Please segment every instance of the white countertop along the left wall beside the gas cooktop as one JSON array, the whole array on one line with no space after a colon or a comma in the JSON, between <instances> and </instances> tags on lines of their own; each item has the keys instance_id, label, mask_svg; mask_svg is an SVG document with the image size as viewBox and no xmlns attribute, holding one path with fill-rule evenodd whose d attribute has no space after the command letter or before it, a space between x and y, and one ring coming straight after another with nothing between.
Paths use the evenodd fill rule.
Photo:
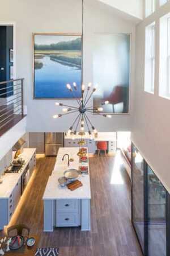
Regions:
<instances>
[{"instance_id":1,"label":"white countertop along the left wall beside the gas cooktop","mask_svg":"<svg viewBox=\"0 0 170 256\"><path fill-rule=\"evenodd\" d=\"M35 151L36 148L24 148L22 154L19 155L19 158L25 160L21 171L18 173L5 174L2 176L3 183L0 184L0 199L7 199L8 197L10 197L14 187L18 183L20 177L23 174L23 171L27 167Z\"/></svg>"}]
</instances>

